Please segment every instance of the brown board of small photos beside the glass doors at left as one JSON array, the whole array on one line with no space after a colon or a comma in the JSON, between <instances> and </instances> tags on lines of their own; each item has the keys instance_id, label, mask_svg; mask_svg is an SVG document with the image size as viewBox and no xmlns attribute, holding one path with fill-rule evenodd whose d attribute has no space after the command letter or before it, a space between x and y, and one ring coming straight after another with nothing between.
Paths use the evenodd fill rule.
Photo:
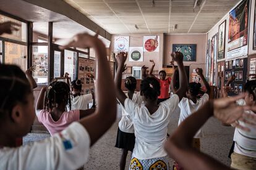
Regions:
<instances>
[{"instance_id":1,"label":"brown board of small photos beside the glass doors at left","mask_svg":"<svg viewBox=\"0 0 256 170\"><path fill-rule=\"evenodd\" d=\"M88 78L88 74L95 76L95 60L79 57L78 79L82 81L82 94L89 94L95 91L94 81Z\"/></svg>"}]
</instances>

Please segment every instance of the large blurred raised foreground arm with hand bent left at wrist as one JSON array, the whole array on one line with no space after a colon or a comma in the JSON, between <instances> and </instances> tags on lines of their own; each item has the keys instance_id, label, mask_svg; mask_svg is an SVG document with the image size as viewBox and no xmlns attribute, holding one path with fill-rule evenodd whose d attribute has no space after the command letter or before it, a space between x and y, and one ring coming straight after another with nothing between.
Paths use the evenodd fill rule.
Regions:
<instances>
[{"instance_id":1,"label":"large blurred raised foreground arm with hand bent left at wrist","mask_svg":"<svg viewBox=\"0 0 256 170\"><path fill-rule=\"evenodd\" d=\"M96 51L97 86L95 95L98 107L92 115L86 116L79 121L87 130L92 146L108 131L116 120L116 93L112 88L114 87L114 81L106 57L106 47L100 39L86 33L77 34L62 49L70 46L80 48L93 47Z\"/></svg>"}]
</instances>

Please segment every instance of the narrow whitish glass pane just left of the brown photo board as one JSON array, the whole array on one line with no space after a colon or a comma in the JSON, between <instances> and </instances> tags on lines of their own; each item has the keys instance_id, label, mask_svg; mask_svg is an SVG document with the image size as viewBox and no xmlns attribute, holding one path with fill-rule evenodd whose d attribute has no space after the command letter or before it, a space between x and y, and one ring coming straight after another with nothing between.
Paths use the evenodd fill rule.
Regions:
<instances>
[{"instance_id":1,"label":"narrow whitish glass pane just left of the brown photo board","mask_svg":"<svg viewBox=\"0 0 256 170\"><path fill-rule=\"evenodd\" d=\"M71 81L73 81L76 77L77 69L76 69L76 63L77 63L77 52L74 51L64 51L64 73L69 73L69 77L71 78Z\"/></svg>"}]
</instances>

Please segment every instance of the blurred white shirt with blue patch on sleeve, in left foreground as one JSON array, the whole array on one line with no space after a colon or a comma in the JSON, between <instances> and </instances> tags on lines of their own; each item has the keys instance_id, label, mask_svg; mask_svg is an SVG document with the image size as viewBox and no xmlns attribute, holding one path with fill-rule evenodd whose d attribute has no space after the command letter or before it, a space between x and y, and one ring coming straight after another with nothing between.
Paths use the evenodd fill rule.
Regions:
<instances>
[{"instance_id":1,"label":"blurred white shirt with blue patch on sleeve, in left foreground","mask_svg":"<svg viewBox=\"0 0 256 170\"><path fill-rule=\"evenodd\" d=\"M0 149L0 169L77 169L88 161L90 136L80 123L48 139Z\"/></svg>"}]
</instances>

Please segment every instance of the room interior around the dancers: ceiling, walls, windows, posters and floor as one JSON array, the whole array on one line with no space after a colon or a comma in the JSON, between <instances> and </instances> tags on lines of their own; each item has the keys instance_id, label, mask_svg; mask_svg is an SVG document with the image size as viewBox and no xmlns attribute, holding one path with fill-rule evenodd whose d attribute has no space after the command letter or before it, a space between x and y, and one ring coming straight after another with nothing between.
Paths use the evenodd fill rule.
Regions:
<instances>
[{"instance_id":1,"label":"room interior around the dancers: ceiling, walls, windows, posters and floor","mask_svg":"<svg viewBox=\"0 0 256 170\"><path fill-rule=\"evenodd\" d=\"M83 94L95 91L93 79L85 76L97 71L94 49L59 49L67 39L83 32L98 33L105 44L113 77L114 54L128 52L127 70L122 74L123 91L127 76L137 79L136 90L140 91L141 69L143 65L151 67L150 60L155 61L153 75L165 70L167 76L172 76L170 55L176 51L184 54L189 82L200 82L195 69L203 69L211 87L211 99L220 97L221 87L231 75L236 75L231 95L237 95L248 75L256 74L255 0L1 0L0 4L0 23L20 24L19 31L0 36L0 61L19 65L23 71L35 68L35 103L41 88L53 79L66 81L66 72L70 81L82 81ZM172 115L168 134L177 128L178 112ZM121 107L117 107L116 122L92 147L84 169L119 168L121 151L114 144L120 119ZM203 129L201 150L229 166L234 128L211 118ZM20 145L49 136L46 127L35 118Z\"/></svg>"}]
</instances>

